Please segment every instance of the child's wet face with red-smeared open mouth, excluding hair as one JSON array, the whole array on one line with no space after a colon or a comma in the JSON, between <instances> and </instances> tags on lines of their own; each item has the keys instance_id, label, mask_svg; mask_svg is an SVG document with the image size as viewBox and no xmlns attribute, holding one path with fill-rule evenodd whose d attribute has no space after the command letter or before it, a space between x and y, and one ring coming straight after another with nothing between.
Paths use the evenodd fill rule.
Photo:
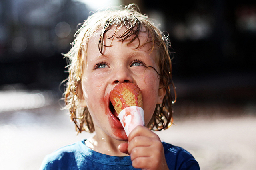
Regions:
<instances>
[{"instance_id":1,"label":"child's wet face with red-smeared open mouth, excluding hair","mask_svg":"<svg viewBox=\"0 0 256 170\"><path fill-rule=\"evenodd\" d=\"M123 31L123 29L121 29ZM127 45L127 40L114 37L110 29L104 38L102 55L98 49L99 35L88 43L87 63L84 62L82 75L82 106L87 106L92 116L96 134L104 133L114 139L127 140L124 129L117 115L110 110L110 91L123 82L132 82L140 87L143 99L145 123L147 124L156 107L161 104L165 91L160 89L159 78L152 66L159 72L156 63L156 51L151 51L151 43L138 47L138 39ZM117 33L120 35L120 32ZM140 45L146 43L148 35L140 33ZM83 56L84 57L84 56ZM84 59L84 61L86 61Z\"/></svg>"}]
</instances>

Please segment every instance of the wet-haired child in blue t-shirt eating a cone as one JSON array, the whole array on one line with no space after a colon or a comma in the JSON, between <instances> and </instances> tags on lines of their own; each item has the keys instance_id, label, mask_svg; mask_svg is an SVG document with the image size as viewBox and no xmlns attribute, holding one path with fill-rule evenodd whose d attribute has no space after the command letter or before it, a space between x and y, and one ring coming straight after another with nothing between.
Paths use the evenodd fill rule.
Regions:
<instances>
[{"instance_id":1,"label":"wet-haired child in blue t-shirt eating a cone","mask_svg":"<svg viewBox=\"0 0 256 170\"><path fill-rule=\"evenodd\" d=\"M198 170L190 153L151 131L171 124L168 47L167 37L134 4L92 14L65 54L70 60L65 101L76 131L95 135L46 156L41 169ZM124 82L140 87L146 124L128 137L109 98Z\"/></svg>"}]
</instances>

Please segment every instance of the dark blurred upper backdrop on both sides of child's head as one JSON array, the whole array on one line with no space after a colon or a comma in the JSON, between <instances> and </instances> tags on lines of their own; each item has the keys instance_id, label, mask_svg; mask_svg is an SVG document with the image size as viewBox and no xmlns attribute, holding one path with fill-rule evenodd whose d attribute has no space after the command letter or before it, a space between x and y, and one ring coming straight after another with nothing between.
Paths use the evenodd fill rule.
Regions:
<instances>
[{"instance_id":1,"label":"dark blurred upper backdrop on both sides of child's head","mask_svg":"<svg viewBox=\"0 0 256 170\"><path fill-rule=\"evenodd\" d=\"M255 2L121 4L132 2L169 33L178 99L255 103ZM0 0L0 90L21 84L61 94L60 83L68 76L61 53L68 52L78 23L90 10L72 0Z\"/></svg>"}]
</instances>

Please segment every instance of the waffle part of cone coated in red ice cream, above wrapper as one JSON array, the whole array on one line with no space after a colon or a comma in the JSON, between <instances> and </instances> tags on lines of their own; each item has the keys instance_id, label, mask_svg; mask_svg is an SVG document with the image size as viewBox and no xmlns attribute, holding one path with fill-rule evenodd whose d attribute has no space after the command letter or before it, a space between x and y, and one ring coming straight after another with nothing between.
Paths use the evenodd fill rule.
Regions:
<instances>
[{"instance_id":1,"label":"waffle part of cone coated in red ice cream, above wrapper","mask_svg":"<svg viewBox=\"0 0 256 170\"><path fill-rule=\"evenodd\" d=\"M143 108L140 88L134 83L121 83L115 86L110 92L110 101L118 115L126 107L138 106Z\"/></svg>"}]
</instances>

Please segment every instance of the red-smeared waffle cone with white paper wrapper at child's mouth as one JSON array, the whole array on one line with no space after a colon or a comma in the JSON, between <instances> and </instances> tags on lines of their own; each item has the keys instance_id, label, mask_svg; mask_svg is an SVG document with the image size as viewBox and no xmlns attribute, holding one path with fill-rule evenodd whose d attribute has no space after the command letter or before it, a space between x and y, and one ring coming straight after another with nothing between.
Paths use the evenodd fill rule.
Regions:
<instances>
[{"instance_id":1,"label":"red-smeared waffle cone with white paper wrapper at child's mouth","mask_svg":"<svg viewBox=\"0 0 256 170\"><path fill-rule=\"evenodd\" d=\"M110 101L127 136L137 125L145 125L142 94L136 84L118 84L110 92Z\"/></svg>"}]
</instances>

